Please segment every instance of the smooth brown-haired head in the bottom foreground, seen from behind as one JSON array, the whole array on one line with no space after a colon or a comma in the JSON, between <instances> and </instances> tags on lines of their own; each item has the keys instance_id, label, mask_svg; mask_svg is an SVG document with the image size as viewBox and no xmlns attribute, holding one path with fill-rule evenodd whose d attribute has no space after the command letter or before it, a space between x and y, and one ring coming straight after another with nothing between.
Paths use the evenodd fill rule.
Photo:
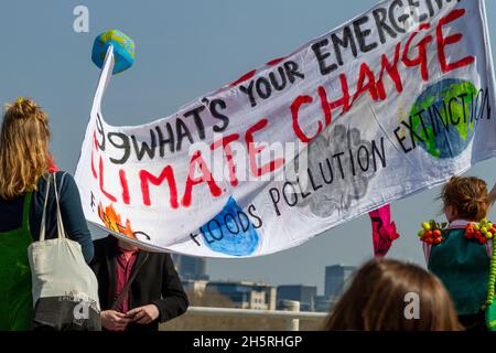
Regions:
<instances>
[{"instance_id":1,"label":"smooth brown-haired head in the bottom foreground, seen from behind","mask_svg":"<svg viewBox=\"0 0 496 353\"><path fill-rule=\"evenodd\" d=\"M325 329L456 331L461 327L450 295L436 277L412 264L373 259L331 309Z\"/></svg>"}]
</instances>

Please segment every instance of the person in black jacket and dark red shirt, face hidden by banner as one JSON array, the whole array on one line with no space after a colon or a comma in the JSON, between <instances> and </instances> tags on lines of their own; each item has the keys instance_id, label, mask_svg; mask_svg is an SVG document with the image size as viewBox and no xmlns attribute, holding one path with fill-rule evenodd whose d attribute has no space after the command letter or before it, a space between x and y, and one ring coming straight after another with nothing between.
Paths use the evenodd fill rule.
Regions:
<instances>
[{"instance_id":1,"label":"person in black jacket and dark red shirt, face hidden by banner","mask_svg":"<svg viewBox=\"0 0 496 353\"><path fill-rule=\"evenodd\" d=\"M101 325L108 331L158 331L188 306L171 256L108 237L95 240Z\"/></svg>"}]
</instances>

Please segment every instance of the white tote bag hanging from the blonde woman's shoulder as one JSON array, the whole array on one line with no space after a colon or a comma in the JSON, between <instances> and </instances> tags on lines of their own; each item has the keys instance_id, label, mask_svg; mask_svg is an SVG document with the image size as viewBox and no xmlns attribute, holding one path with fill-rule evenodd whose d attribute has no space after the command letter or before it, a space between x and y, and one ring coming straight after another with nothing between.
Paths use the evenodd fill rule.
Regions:
<instances>
[{"instance_id":1,"label":"white tote bag hanging from the blonde woman's shoulder","mask_svg":"<svg viewBox=\"0 0 496 353\"><path fill-rule=\"evenodd\" d=\"M53 183L57 237L45 240L46 203ZM55 174L46 183L40 240L28 248L33 282L33 329L101 330L98 281L80 245L66 237Z\"/></svg>"}]
</instances>

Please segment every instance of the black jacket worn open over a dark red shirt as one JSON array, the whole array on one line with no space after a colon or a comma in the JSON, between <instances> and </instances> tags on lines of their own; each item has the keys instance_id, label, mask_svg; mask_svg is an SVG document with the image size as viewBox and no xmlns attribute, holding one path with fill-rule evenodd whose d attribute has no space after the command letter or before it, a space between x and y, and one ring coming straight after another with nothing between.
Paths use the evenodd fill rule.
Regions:
<instances>
[{"instance_id":1,"label":"black jacket worn open over a dark red shirt","mask_svg":"<svg viewBox=\"0 0 496 353\"><path fill-rule=\"evenodd\" d=\"M90 267L98 279L98 296L101 310L109 310L117 299L116 268L118 246L117 239L108 236L94 242L95 257ZM171 256L165 253L148 253L139 250L131 270L133 271L148 258L129 290L129 309L147 304L159 308L159 319L147 324L130 324L129 330L157 331L159 322L174 319L187 309L188 301L181 280L172 263Z\"/></svg>"}]
</instances>

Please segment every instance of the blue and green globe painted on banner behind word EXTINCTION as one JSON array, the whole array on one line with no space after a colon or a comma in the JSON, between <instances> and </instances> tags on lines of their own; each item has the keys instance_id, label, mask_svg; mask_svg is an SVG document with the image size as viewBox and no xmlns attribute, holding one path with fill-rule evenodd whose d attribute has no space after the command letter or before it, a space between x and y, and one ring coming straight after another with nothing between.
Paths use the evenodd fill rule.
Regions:
<instances>
[{"instance_id":1,"label":"blue and green globe painted on banner behind word EXTINCTION","mask_svg":"<svg viewBox=\"0 0 496 353\"><path fill-rule=\"evenodd\" d=\"M413 118L411 122L422 139L416 138L416 143L434 158L461 154L474 137L476 119L472 111L477 92L471 82L456 78L428 86L410 110L411 117L423 111L422 120Z\"/></svg>"}]
</instances>

